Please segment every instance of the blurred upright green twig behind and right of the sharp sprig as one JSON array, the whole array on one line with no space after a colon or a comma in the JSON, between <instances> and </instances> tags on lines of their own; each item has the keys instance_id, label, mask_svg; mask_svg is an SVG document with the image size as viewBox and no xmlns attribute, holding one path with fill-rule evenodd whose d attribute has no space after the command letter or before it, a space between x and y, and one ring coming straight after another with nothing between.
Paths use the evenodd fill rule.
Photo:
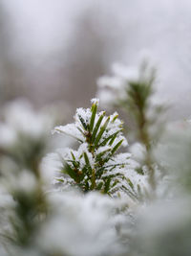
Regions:
<instances>
[{"instance_id":1,"label":"blurred upright green twig behind and right of the sharp sprig","mask_svg":"<svg viewBox=\"0 0 191 256\"><path fill-rule=\"evenodd\" d=\"M144 164L147 166L149 183L155 193L157 180L155 175L156 159L153 158L153 146L158 143L163 128L159 123L164 107L153 105L155 70L144 62L140 67L138 81L128 81L126 101L121 102L128 113L131 113L137 126L136 139L146 149Z\"/></svg>"}]
</instances>

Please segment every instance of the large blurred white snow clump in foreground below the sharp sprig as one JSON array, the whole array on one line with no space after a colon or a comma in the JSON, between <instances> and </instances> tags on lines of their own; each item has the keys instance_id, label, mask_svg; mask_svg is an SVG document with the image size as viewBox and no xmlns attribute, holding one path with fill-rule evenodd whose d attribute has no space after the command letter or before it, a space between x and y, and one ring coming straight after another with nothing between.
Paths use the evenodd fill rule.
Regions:
<instances>
[{"instance_id":1,"label":"large blurred white snow clump in foreground below the sharp sprig","mask_svg":"<svg viewBox=\"0 0 191 256\"><path fill-rule=\"evenodd\" d=\"M121 214L126 200L95 192L56 192L49 195L53 214L35 241L45 252L58 255L118 255L125 251L119 230L131 218ZM127 240L128 241L128 240ZM63 254L64 253L64 254ZM52 254L51 254L52 255Z\"/></svg>"}]
</instances>

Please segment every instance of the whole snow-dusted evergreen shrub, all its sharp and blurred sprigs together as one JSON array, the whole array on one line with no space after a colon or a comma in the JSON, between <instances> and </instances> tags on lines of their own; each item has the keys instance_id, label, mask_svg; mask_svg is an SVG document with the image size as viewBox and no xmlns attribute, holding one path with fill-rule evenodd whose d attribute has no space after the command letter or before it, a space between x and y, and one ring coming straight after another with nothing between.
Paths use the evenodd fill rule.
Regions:
<instances>
[{"instance_id":1,"label":"whole snow-dusted evergreen shrub, all its sharp and blurred sprigs together","mask_svg":"<svg viewBox=\"0 0 191 256\"><path fill-rule=\"evenodd\" d=\"M112 88L125 83L114 99L133 117L128 151L117 112L98 112L97 99L76 109L74 124L53 129L73 137L76 148L63 144L46 157L52 119L26 103L5 108L0 255L190 255L190 121L161 132L162 107L144 67L116 65L117 77L107 79Z\"/></svg>"}]
</instances>

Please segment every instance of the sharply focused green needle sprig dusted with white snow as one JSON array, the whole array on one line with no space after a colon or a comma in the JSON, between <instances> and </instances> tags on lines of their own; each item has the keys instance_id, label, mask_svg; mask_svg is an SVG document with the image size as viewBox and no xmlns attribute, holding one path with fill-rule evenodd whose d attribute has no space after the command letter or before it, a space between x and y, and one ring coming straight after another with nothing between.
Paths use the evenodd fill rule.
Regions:
<instances>
[{"instance_id":1,"label":"sharply focused green needle sprig dusted with white snow","mask_svg":"<svg viewBox=\"0 0 191 256\"><path fill-rule=\"evenodd\" d=\"M56 180L64 185L76 185L82 191L92 190L119 196L125 193L138 199L141 175L135 171L137 163L127 152L116 153L120 146L127 146L122 134L123 123L118 114L106 116L97 112L98 100L92 100L91 108L77 108L74 124L55 127L53 132L74 137L79 148L57 151L63 167Z\"/></svg>"}]
</instances>

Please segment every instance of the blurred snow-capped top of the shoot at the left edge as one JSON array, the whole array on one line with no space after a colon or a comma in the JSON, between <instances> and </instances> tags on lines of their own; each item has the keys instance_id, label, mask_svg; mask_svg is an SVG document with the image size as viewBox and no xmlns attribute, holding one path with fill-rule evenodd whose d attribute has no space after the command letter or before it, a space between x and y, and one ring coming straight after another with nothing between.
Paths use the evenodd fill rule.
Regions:
<instances>
[{"instance_id":1,"label":"blurred snow-capped top of the shoot at the left edge","mask_svg":"<svg viewBox=\"0 0 191 256\"><path fill-rule=\"evenodd\" d=\"M26 100L5 105L1 115L2 156L11 156L16 165L31 169L47 151L53 118L43 111L36 111Z\"/></svg>"}]
</instances>

